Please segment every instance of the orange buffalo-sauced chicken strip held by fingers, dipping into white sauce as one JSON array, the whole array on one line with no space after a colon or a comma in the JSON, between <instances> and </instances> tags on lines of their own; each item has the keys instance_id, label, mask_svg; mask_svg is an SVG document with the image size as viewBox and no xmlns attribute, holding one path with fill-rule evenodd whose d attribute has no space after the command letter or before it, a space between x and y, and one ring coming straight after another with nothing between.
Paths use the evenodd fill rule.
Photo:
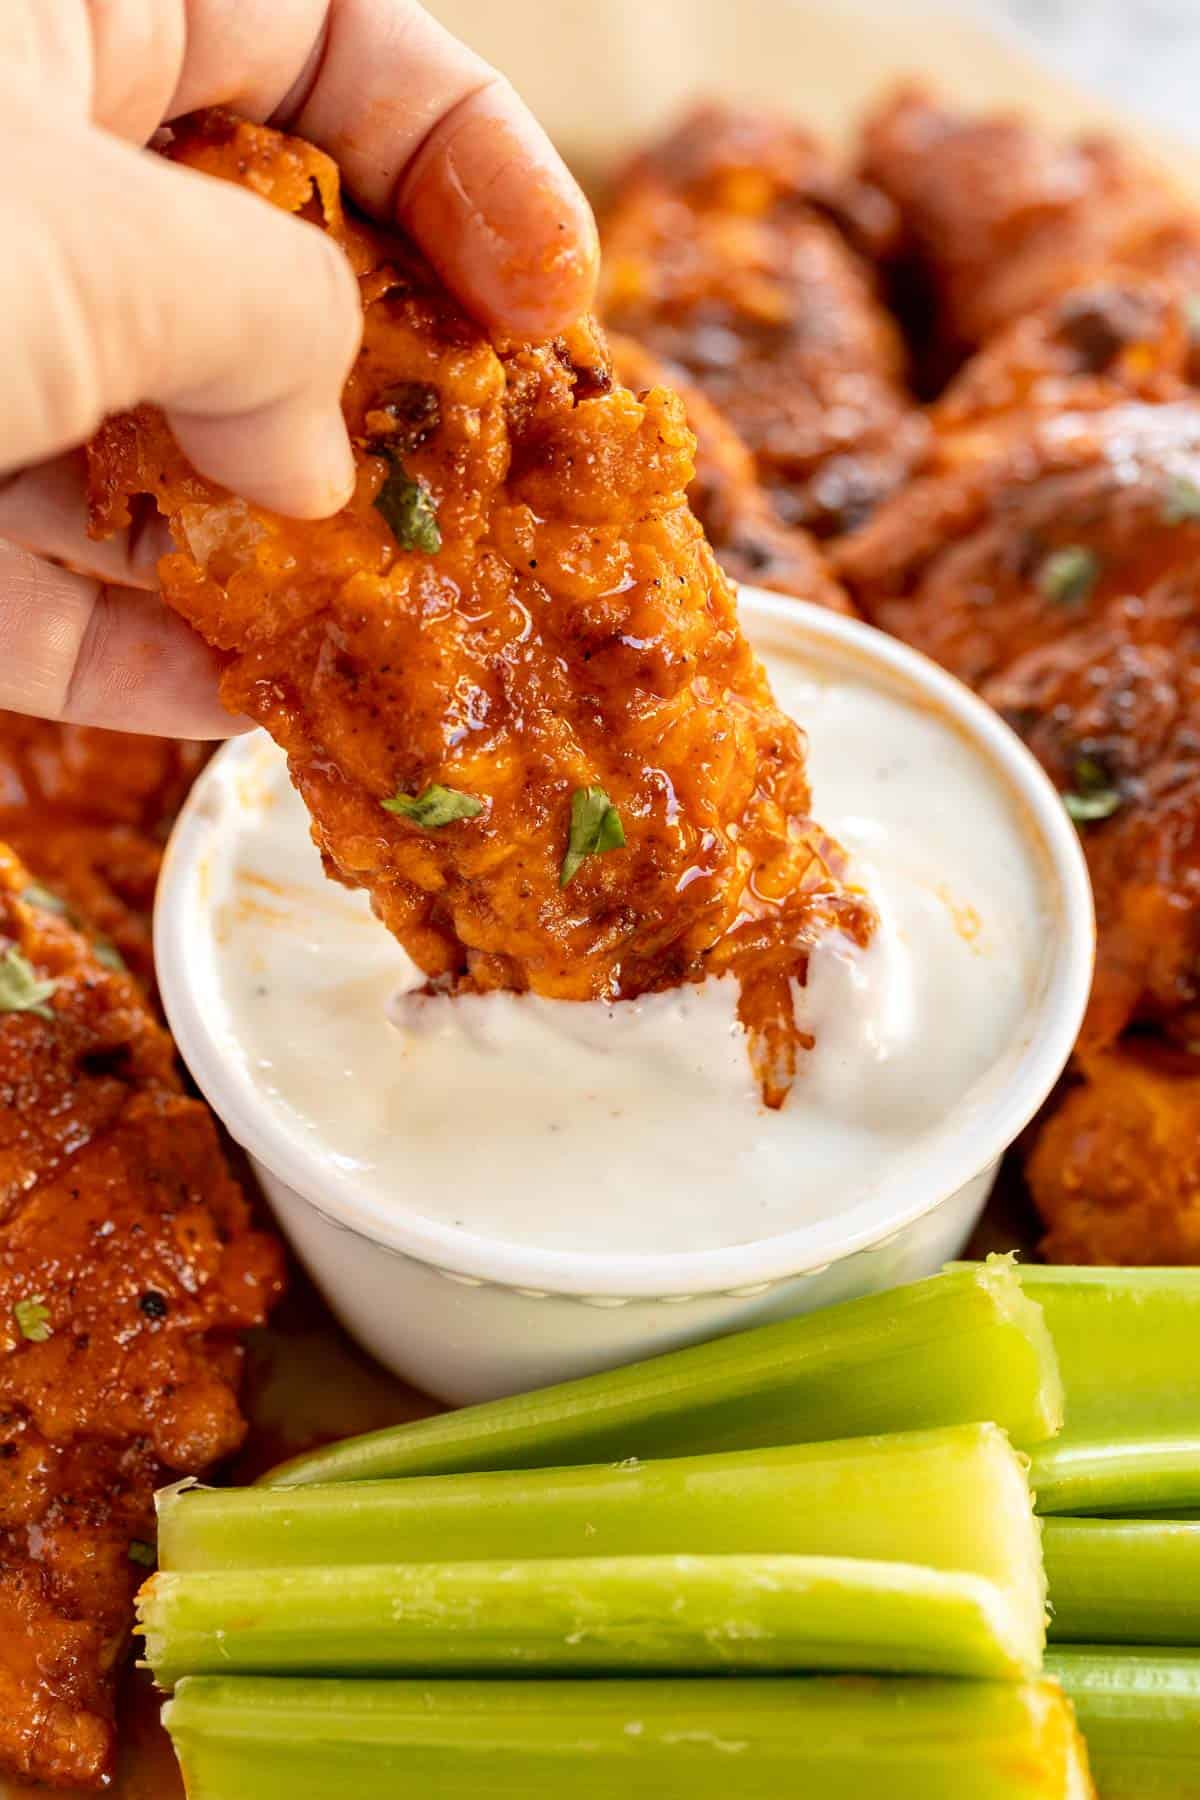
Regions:
<instances>
[{"instance_id":1,"label":"orange buffalo-sauced chicken strip held by fingers, dipping into white sauce","mask_svg":"<svg viewBox=\"0 0 1200 1800\"><path fill-rule=\"evenodd\" d=\"M615 385L587 322L497 349L408 245L345 218L308 144L207 113L169 153L345 247L358 486L331 520L282 520L198 477L139 409L92 446L94 529L155 497L178 544L164 594L225 652L227 704L288 751L327 871L371 891L432 981L587 1001L732 970L781 1103L792 983L819 932L865 941L874 913L810 819L804 736L687 508L680 401ZM435 509L437 547L376 506L396 481ZM423 828L381 805L430 785L482 810ZM563 882L592 787L624 846Z\"/></svg>"}]
</instances>

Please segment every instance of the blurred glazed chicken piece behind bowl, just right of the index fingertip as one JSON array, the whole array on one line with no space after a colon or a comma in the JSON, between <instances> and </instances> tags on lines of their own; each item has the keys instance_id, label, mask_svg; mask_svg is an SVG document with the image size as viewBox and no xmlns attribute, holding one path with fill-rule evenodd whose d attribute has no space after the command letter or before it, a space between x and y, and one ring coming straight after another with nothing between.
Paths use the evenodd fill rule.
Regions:
<instances>
[{"instance_id":1,"label":"blurred glazed chicken piece behind bowl, just right of the index fingertip","mask_svg":"<svg viewBox=\"0 0 1200 1800\"><path fill-rule=\"evenodd\" d=\"M684 371L784 524L820 536L865 518L923 439L860 254L883 250L892 223L806 131L723 106L637 157L601 220L606 324Z\"/></svg>"}]
</instances>

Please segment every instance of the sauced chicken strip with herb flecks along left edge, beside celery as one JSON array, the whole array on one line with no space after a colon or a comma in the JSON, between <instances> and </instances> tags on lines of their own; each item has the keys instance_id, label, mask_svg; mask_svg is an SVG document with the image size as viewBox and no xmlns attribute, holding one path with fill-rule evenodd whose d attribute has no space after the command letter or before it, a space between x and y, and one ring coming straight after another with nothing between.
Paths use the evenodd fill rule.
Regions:
<instances>
[{"instance_id":1,"label":"sauced chicken strip with herb flecks along left edge, beside celery","mask_svg":"<svg viewBox=\"0 0 1200 1800\"><path fill-rule=\"evenodd\" d=\"M112 1769L153 1490L237 1447L279 1289L133 981L0 848L0 1771Z\"/></svg>"}]
</instances>

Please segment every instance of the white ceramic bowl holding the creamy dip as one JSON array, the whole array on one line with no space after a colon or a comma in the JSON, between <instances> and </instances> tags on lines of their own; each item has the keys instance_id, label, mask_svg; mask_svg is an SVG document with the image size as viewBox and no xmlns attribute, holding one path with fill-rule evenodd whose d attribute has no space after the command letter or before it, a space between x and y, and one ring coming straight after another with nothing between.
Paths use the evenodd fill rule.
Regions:
<instances>
[{"instance_id":1,"label":"white ceramic bowl holding the creamy dip","mask_svg":"<svg viewBox=\"0 0 1200 1800\"><path fill-rule=\"evenodd\" d=\"M216 1030L209 862L236 805L230 774L257 752L228 743L196 783L158 884L158 981L180 1053L248 1152L275 1215L333 1312L383 1364L453 1402L543 1386L675 1345L930 1274L959 1253L997 1163L1033 1118L1074 1044L1092 974L1087 868L1063 805L1013 733L925 657L817 607L741 596L763 650L788 646L934 709L963 734L1022 821L1045 896L1045 941L1013 1042L928 1139L919 1172L898 1170L837 1217L729 1249L666 1255L542 1251L423 1217L394 1193L299 1143ZM820 796L817 796L820 805ZM869 796L864 796L869 808ZM646 1172L648 1186L653 1170Z\"/></svg>"}]
</instances>

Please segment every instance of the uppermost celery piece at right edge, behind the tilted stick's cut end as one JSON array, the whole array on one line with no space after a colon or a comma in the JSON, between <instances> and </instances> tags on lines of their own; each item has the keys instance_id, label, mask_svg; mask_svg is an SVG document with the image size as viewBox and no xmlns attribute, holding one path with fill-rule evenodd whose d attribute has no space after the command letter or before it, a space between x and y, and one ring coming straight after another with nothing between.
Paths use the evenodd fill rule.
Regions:
<instances>
[{"instance_id":1,"label":"uppermost celery piece at right edge, behind the tilted stick's cut end","mask_svg":"<svg viewBox=\"0 0 1200 1800\"><path fill-rule=\"evenodd\" d=\"M1200 1269L1043 1269L1020 1280L1045 1312L1067 1417L1031 1447L1040 1512L1200 1507Z\"/></svg>"}]
</instances>

